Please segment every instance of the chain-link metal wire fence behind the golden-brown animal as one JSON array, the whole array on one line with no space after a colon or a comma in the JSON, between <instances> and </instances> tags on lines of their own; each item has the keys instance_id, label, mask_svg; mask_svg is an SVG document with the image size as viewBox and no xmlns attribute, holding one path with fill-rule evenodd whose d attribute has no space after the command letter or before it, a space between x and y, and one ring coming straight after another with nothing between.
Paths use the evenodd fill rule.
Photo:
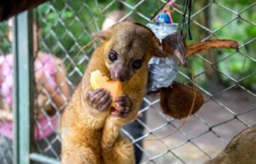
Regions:
<instances>
[{"instance_id":1,"label":"chain-link metal wire fence behind the golden-brown animal","mask_svg":"<svg viewBox=\"0 0 256 164\"><path fill-rule=\"evenodd\" d=\"M32 161L60 161L58 122L96 48L96 43L84 48L92 40L92 33L101 31L103 21L115 10L125 13L120 21L129 18L146 25L164 3L164 0L55 0L34 9L37 55ZM182 0L176 3L183 5ZM137 156L143 155L140 163L203 163L217 156L242 129L256 124L255 4L195 1L190 18L193 42L225 38L236 40L240 47L196 54L189 59L189 69L179 68L177 81L194 84L205 99L201 110L190 116L182 128L177 129L183 119L163 114L158 96L145 96L136 123L122 130L134 144ZM174 9L172 18L180 23L182 8ZM12 53L9 28L8 22L0 24L0 70L3 63L9 63L6 59ZM3 92L4 75L12 74L12 66L9 65L10 72L0 73L1 164L13 163L13 142L9 138L12 104L5 105L4 101L12 97L12 88L6 92L11 95ZM44 159L37 155L44 155Z\"/></svg>"}]
</instances>

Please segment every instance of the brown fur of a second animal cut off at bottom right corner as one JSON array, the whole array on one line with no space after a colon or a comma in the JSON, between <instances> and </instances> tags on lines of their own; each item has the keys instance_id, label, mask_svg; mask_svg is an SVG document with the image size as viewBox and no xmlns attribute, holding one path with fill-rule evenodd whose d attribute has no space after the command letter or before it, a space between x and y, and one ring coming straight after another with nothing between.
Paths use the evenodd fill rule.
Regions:
<instances>
[{"instance_id":1,"label":"brown fur of a second animal cut off at bottom right corner","mask_svg":"<svg viewBox=\"0 0 256 164\"><path fill-rule=\"evenodd\" d=\"M237 134L217 157L205 164L256 164L256 126Z\"/></svg>"}]
</instances>

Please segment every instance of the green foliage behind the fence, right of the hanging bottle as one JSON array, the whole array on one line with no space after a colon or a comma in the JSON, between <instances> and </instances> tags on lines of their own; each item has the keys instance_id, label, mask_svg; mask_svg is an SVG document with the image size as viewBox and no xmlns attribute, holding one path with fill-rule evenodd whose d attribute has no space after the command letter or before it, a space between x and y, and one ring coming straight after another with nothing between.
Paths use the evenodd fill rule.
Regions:
<instances>
[{"instance_id":1,"label":"green foliage behind the fence, right of the hanging bottle","mask_svg":"<svg viewBox=\"0 0 256 164\"><path fill-rule=\"evenodd\" d=\"M223 73L219 73L219 79L221 82L230 85L234 84L234 82L230 80L231 78L234 79L235 82L239 82L245 88L256 89L256 76L253 75L256 70L256 54L254 53L256 50L256 41L253 41L256 37L256 28L255 25L250 23L253 22L255 24L256 22L256 15L253 14L256 7L246 9L253 4L253 2L250 1L236 1L236 3L234 3L232 0L225 0L218 1L217 3L226 8L230 8L234 12L230 12L220 7L218 4L213 3L211 5L211 18L206 18L201 12L193 19L202 25L207 19L211 19L212 27L208 28L215 31L214 37L232 39L237 41L240 45L245 44L245 46L239 49L241 53L236 53L236 50L230 49L213 50L210 53L215 56L218 70L227 75L225 76ZM202 4L201 7L195 5L194 12L198 11L202 6L204 5ZM243 11L241 14L236 14L241 11ZM201 39L211 34L199 25L191 24L191 29L194 42L199 42ZM247 58L247 56L252 59ZM194 69L195 74L200 74L201 71L204 70L204 65L205 63L200 58L189 59L189 66ZM249 77L247 78L247 76ZM240 80L243 78L244 80ZM201 84L203 84L205 80L207 79L203 77Z\"/></svg>"}]
</instances>

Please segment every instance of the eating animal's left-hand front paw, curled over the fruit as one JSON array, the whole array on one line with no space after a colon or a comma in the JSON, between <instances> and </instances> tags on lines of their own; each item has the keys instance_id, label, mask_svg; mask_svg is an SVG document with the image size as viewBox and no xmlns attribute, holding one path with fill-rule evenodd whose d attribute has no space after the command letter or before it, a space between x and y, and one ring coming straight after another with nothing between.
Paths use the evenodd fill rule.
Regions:
<instances>
[{"instance_id":1,"label":"eating animal's left-hand front paw, curled over the fruit","mask_svg":"<svg viewBox=\"0 0 256 164\"><path fill-rule=\"evenodd\" d=\"M110 92L103 88L90 89L88 98L90 106L99 111L108 110L112 102Z\"/></svg>"}]
</instances>

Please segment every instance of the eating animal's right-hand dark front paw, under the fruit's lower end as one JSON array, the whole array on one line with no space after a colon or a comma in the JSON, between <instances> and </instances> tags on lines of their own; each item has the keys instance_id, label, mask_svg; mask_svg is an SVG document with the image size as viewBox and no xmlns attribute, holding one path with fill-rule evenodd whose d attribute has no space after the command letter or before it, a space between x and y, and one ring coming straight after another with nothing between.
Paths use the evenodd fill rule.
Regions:
<instances>
[{"instance_id":1,"label":"eating animal's right-hand dark front paw, under the fruit's lower end","mask_svg":"<svg viewBox=\"0 0 256 164\"><path fill-rule=\"evenodd\" d=\"M120 95L115 99L115 103L117 104L117 109L113 110L113 116L120 116L124 118L130 113L132 103L131 99L127 95Z\"/></svg>"}]
</instances>

